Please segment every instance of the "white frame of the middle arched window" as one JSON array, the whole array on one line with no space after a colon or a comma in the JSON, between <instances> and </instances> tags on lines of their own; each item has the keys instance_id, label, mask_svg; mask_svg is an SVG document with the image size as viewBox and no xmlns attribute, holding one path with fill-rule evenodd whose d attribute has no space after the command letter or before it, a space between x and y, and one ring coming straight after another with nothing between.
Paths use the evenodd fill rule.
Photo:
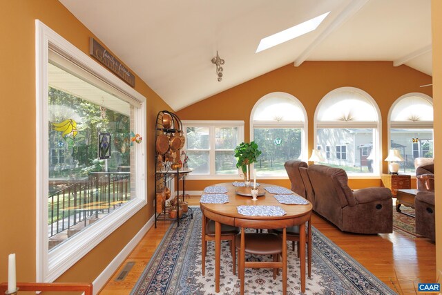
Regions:
<instances>
[{"instance_id":1,"label":"white frame of the middle arched window","mask_svg":"<svg viewBox=\"0 0 442 295\"><path fill-rule=\"evenodd\" d=\"M363 121L344 121L344 122L336 122L336 121L320 121L318 122L318 113L320 110L321 105L330 97L334 96L337 92L343 92L343 91L354 91L356 93L359 93L363 95L365 98L371 102L372 106L376 110L377 114L377 122L363 122ZM374 155L375 160L373 160L373 163L376 164L375 167L377 167L376 170L373 171L373 173L347 173L348 178L350 179L370 179L370 178L379 178L379 176L382 173L382 117L381 117L381 110L379 110L379 106L376 103L376 100L369 95L367 92L363 91L362 89L356 88L356 87L340 87L336 88L329 93L327 93L319 102L318 106L315 110L314 115L314 146L317 145L317 131L318 129L374 129L373 133L373 149L374 151L378 151L376 155Z\"/></svg>"}]
</instances>

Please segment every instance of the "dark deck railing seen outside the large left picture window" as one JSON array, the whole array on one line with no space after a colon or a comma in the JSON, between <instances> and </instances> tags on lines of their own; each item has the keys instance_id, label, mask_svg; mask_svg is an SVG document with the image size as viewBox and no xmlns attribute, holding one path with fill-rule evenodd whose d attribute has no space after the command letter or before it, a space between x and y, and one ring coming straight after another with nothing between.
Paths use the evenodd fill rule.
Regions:
<instances>
[{"instance_id":1,"label":"dark deck railing seen outside the large left picture window","mask_svg":"<svg viewBox=\"0 0 442 295\"><path fill-rule=\"evenodd\" d=\"M131 199L131 173L91 172L88 177L48 197L48 237L66 231L100 213L110 213Z\"/></svg>"}]
</instances>

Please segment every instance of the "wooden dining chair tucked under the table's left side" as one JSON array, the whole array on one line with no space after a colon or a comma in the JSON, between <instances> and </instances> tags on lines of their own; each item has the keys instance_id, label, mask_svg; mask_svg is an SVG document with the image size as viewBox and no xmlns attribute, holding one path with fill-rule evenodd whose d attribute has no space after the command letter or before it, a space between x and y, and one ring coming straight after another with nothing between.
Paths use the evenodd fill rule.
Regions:
<instances>
[{"instance_id":1,"label":"wooden dining chair tucked under the table's left side","mask_svg":"<svg viewBox=\"0 0 442 295\"><path fill-rule=\"evenodd\" d=\"M221 224L221 240L230 241L230 252L233 262L233 274L236 274L236 245L235 237L240 232L238 227L232 227L231 225ZM202 216L202 232L201 232L201 268L202 275L206 272L206 255L207 255L207 241L215 240L215 222Z\"/></svg>"}]
</instances>

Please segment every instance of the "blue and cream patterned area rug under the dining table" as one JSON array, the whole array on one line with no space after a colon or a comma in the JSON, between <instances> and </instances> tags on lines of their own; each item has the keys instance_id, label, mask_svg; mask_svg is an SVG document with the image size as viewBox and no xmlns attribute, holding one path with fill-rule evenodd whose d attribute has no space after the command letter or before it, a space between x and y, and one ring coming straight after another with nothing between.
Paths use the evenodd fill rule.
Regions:
<instances>
[{"instance_id":1,"label":"blue and cream patterned area rug under the dining table","mask_svg":"<svg viewBox=\"0 0 442 295\"><path fill-rule=\"evenodd\" d=\"M179 227L176 222L171 225L131 295L215 294L214 242L208 242L206 275L201 272L201 216L196 209L193 219L180 221ZM312 233L311 278L306 279L305 294L396 294L318 230L313 228ZM289 249L287 254L287 294L302 294L296 251ZM240 280L232 273L227 241L222 241L220 277L218 294L239 294ZM273 280L271 269L246 269L244 293L282 294L281 277Z\"/></svg>"}]
</instances>

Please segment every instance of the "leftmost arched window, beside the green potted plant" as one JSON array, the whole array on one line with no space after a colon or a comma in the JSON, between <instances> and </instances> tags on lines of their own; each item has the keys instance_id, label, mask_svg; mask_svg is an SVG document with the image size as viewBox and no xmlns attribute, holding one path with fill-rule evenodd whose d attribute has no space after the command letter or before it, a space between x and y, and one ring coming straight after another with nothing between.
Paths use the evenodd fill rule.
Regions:
<instances>
[{"instance_id":1,"label":"leftmost arched window, beside the green potted plant","mask_svg":"<svg viewBox=\"0 0 442 295\"><path fill-rule=\"evenodd\" d=\"M269 93L251 112L251 139L262 151L255 163L258 176L287 175L284 163L307 159L307 113L289 93Z\"/></svg>"}]
</instances>

